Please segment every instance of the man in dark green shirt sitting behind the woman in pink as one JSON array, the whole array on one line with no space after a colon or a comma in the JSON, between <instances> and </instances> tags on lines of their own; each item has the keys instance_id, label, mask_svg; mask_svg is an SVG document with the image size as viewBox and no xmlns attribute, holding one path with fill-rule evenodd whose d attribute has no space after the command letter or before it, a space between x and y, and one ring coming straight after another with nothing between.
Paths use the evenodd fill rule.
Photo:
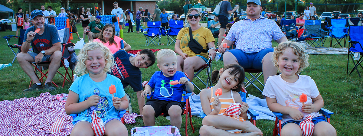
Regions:
<instances>
[{"instance_id":1,"label":"man in dark green shirt sitting behind the woman in pink","mask_svg":"<svg viewBox=\"0 0 363 136\"><path fill-rule=\"evenodd\" d=\"M105 25L101 23L101 17L97 16L96 21L90 22L90 24L88 24L83 33L87 34L87 29L91 29L91 31L88 32L87 35L88 35L88 40L92 41L93 39L98 38L101 35L103 26Z\"/></svg>"}]
</instances>

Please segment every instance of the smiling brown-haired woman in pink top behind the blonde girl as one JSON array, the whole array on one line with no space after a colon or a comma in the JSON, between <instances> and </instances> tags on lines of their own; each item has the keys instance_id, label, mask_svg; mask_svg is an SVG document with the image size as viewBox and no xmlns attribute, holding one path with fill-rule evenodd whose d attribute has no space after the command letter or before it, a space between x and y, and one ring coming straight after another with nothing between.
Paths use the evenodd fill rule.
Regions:
<instances>
[{"instance_id":1,"label":"smiling brown-haired woman in pink top behind the blonde girl","mask_svg":"<svg viewBox=\"0 0 363 136\"><path fill-rule=\"evenodd\" d=\"M105 45L111 50L112 54L116 53L118 50L131 50L131 46L125 41L123 41L124 48L121 48L121 40L122 39L120 37L115 36L114 25L106 24L101 31L101 35L93 41L97 41Z\"/></svg>"}]
</instances>

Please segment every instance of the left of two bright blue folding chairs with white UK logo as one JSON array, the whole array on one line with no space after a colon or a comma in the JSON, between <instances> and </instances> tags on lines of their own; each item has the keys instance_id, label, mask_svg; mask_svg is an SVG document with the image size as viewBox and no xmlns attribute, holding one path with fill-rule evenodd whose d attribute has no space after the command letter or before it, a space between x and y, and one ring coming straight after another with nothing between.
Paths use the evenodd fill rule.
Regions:
<instances>
[{"instance_id":1,"label":"left of two bright blue folding chairs with white UK logo","mask_svg":"<svg viewBox=\"0 0 363 136\"><path fill-rule=\"evenodd\" d=\"M160 35L165 36L165 28L161 27L161 22L160 21L156 21L156 22L147 22L147 28L146 29L141 29L141 31L143 31L144 36L146 38L146 42L145 42L145 46L148 46L150 44L154 44L156 46L157 45L161 45L160 43ZM146 34L145 34L146 32ZM159 42L156 41L156 39L159 40Z\"/></svg>"}]
</instances>

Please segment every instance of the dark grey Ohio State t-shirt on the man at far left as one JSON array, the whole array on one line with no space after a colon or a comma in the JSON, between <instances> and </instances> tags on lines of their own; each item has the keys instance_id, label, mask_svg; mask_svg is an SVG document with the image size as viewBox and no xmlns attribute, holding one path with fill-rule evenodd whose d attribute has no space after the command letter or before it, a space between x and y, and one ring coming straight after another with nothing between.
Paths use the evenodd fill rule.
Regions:
<instances>
[{"instance_id":1,"label":"dark grey Ohio State t-shirt on the man at far left","mask_svg":"<svg viewBox=\"0 0 363 136\"><path fill-rule=\"evenodd\" d=\"M36 29L37 28L35 28L34 26L26 29L24 37L26 37L26 35L30 31L34 32ZM23 42L26 42L26 38L24 38ZM61 40L59 38L58 30L57 30L56 26L44 24L43 34L42 35L36 34L34 36L34 39L30 42L30 44L32 44L32 46L33 46L34 53L40 53L40 51L42 51L42 50L48 50L49 48L51 48L53 46L53 44L55 44L57 42L61 42Z\"/></svg>"}]
</instances>

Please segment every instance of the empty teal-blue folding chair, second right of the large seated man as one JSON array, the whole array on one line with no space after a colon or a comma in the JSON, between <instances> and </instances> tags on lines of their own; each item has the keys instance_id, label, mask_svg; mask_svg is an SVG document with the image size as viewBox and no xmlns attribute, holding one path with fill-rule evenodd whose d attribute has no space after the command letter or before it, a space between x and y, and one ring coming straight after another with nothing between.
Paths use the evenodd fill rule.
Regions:
<instances>
[{"instance_id":1,"label":"empty teal-blue folding chair, second right of the large seated man","mask_svg":"<svg viewBox=\"0 0 363 136\"><path fill-rule=\"evenodd\" d=\"M321 28L321 20L305 20L305 30L303 35L306 35L306 42L310 46L324 47L328 32Z\"/></svg>"}]
</instances>

